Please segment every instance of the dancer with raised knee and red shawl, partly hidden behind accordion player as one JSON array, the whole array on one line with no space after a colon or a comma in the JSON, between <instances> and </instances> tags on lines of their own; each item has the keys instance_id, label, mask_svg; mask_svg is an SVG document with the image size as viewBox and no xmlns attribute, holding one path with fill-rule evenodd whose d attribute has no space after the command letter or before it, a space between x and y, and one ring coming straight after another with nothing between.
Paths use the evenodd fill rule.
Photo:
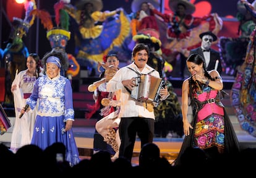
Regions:
<instances>
[{"instance_id":1,"label":"dancer with raised knee and red shawl, partly hidden behind accordion player","mask_svg":"<svg viewBox=\"0 0 256 178\"><path fill-rule=\"evenodd\" d=\"M119 121L118 119L116 120L116 122L113 121L114 122L113 125L116 125L116 127L112 127L113 125L108 125L108 124L109 122L111 122L110 117L113 117L113 114L115 117L118 116L119 108L118 107L116 108L116 106L110 106L109 102L112 100L118 100L119 96L117 95L118 93L116 92L108 92L106 90L106 83L114 75L113 73L110 74L108 72L112 70L112 69L108 69L108 67L113 67L114 72L116 72L116 70L119 69L118 67L119 60L116 54L108 54L103 57L103 61L105 62L106 66L104 67L105 70L100 75L101 80L93 83L93 85L95 86L94 88L95 90L92 90L92 91L94 91L93 98L95 100L95 104L93 106L87 105L89 112L85 114L85 117L87 119L90 119L92 115L95 114L96 111L100 111L100 115L102 117L98 117L98 122L96 122L96 125L95 125L95 134L93 139L93 152L96 153L98 151L105 150L105 151L108 151L111 155L114 155L113 159L116 159L118 158L119 145L120 145L119 135L116 134ZM91 89L89 88L89 90ZM109 114L111 115L109 116ZM110 138L108 139L107 138L108 134L111 134L111 138L113 139L110 139Z\"/></svg>"}]
</instances>

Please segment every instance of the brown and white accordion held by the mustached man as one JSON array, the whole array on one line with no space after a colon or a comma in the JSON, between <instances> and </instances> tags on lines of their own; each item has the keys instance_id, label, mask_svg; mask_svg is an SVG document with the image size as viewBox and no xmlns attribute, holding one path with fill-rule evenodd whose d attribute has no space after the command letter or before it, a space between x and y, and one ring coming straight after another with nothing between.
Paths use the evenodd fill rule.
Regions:
<instances>
[{"instance_id":1,"label":"brown and white accordion held by the mustached man","mask_svg":"<svg viewBox=\"0 0 256 178\"><path fill-rule=\"evenodd\" d=\"M130 97L140 102L159 103L160 89L166 86L166 80L143 74L135 77L136 87L132 88Z\"/></svg>"}]
</instances>

